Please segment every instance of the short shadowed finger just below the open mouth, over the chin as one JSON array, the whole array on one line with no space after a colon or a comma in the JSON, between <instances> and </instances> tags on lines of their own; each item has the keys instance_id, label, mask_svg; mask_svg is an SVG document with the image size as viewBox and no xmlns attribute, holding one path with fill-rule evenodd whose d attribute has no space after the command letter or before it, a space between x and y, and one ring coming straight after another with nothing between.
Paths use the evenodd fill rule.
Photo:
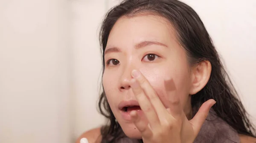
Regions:
<instances>
[{"instance_id":1,"label":"short shadowed finger just below the open mouth, over the chin","mask_svg":"<svg viewBox=\"0 0 256 143\"><path fill-rule=\"evenodd\" d=\"M134 110L131 111L130 115L131 115L131 120L133 121L133 123L137 127L137 129L141 132L141 135L143 137L149 138L153 135L151 132L151 129L149 129L149 127L148 127L148 123L141 120L137 111L134 111Z\"/></svg>"}]
</instances>

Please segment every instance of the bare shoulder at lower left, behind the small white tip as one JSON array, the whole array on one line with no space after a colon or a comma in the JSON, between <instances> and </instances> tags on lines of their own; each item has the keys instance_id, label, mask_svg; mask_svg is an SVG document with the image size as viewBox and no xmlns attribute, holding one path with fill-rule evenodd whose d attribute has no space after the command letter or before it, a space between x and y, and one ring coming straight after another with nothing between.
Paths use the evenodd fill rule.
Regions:
<instances>
[{"instance_id":1,"label":"bare shoulder at lower left, behind the small white tip","mask_svg":"<svg viewBox=\"0 0 256 143\"><path fill-rule=\"evenodd\" d=\"M89 143L100 143L102 140L100 128L91 129L84 132L77 140L76 143L80 143L81 138L87 138Z\"/></svg>"}]
</instances>

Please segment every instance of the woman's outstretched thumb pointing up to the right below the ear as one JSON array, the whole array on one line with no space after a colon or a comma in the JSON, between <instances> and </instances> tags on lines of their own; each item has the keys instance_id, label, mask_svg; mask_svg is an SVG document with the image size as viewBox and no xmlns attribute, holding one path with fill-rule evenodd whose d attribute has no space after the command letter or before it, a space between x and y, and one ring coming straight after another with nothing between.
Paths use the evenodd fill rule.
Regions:
<instances>
[{"instance_id":1,"label":"woman's outstretched thumb pointing up to the right below the ear","mask_svg":"<svg viewBox=\"0 0 256 143\"><path fill-rule=\"evenodd\" d=\"M203 126L204 121L207 118L207 115L211 107L215 103L216 101L213 99L209 99L208 101L204 102L204 104L202 104L202 106L199 108L195 117L190 120L190 123L192 123L193 129L194 129L195 135L198 135L201 127Z\"/></svg>"}]
</instances>

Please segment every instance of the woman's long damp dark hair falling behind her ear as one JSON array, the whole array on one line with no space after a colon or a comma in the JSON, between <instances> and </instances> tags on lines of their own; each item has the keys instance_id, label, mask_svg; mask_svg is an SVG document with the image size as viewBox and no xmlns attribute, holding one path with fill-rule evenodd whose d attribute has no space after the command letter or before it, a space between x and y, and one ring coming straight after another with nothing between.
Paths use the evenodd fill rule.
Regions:
<instances>
[{"instance_id":1,"label":"woman's long damp dark hair falling behind her ear","mask_svg":"<svg viewBox=\"0 0 256 143\"><path fill-rule=\"evenodd\" d=\"M100 31L103 72L105 69L104 52L113 25L122 16L132 17L141 12L160 15L172 23L180 45L185 49L191 64L204 60L211 63L212 72L208 83L201 91L192 95L193 115L205 101L212 98L217 102L212 109L220 118L239 134L255 137L255 128L247 117L248 114L221 63L203 22L190 6L178 0L124 0L111 8L105 15ZM99 98L99 111L110 121L109 126L103 126L101 129L102 143L114 143L121 137L122 129L110 109L104 87Z\"/></svg>"}]
</instances>

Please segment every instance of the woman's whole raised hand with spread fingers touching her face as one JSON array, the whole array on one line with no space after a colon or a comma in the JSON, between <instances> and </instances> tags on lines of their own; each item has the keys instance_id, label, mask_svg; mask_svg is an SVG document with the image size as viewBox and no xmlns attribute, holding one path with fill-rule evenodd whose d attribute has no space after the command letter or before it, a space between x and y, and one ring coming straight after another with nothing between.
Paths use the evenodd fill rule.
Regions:
<instances>
[{"instance_id":1,"label":"woman's whole raised hand with spread fingers touching her face","mask_svg":"<svg viewBox=\"0 0 256 143\"><path fill-rule=\"evenodd\" d=\"M148 123L142 121L137 111L130 113L132 121L142 134L144 143L193 143L210 108L216 103L206 101L192 120L186 118L177 95L167 92L169 108L166 109L148 80L138 71L132 71L131 89Z\"/></svg>"}]
</instances>

